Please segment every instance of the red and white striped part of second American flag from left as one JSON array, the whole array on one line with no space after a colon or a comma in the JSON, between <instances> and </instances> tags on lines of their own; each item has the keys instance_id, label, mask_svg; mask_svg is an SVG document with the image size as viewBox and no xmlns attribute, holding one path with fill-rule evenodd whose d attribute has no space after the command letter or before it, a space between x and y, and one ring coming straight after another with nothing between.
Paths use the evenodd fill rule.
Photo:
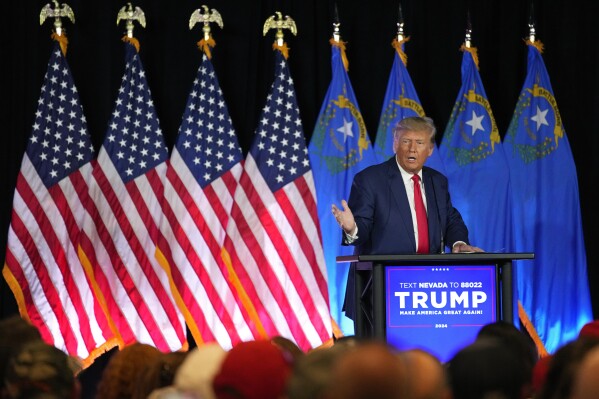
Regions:
<instances>
[{"instance_id":1,"label":"red and white striped part of second American flag from left","mask_svg":"<svg viewBox=\"0 0 599 399\"><path fill-rule=\"evenodd\" d=\"M104 147L90 180L81 248L125 344L186 344L169 277L155 258L166 163L125 184Z\"/></svg>"}]
</instances>

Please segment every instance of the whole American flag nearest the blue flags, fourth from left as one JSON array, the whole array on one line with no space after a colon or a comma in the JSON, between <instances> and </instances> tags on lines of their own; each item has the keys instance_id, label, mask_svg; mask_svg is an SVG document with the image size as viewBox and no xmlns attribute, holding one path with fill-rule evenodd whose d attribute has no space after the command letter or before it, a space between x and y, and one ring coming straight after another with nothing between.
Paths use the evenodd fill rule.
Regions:
<instances>
[{"instance_id":1,"label":"whole American flag nearest the blue flags, fourth from left","mask_svg":"<svg viewBox=\"0 0 599 399\"><path fill-rule=\"evenodd\" d=\"M224 259L239 279L252 328L302 349L331 338L326 267L314 180L287 60L245 160L227 226Z\"/></svg>"}]
</instances>

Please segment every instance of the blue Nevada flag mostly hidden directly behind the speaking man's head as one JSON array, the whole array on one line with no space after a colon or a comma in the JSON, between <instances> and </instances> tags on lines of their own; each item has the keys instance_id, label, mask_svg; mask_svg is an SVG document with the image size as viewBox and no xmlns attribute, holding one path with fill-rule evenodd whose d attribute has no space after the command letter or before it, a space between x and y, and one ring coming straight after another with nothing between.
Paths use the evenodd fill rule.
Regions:
<instances>
[{"instance_id":1,"label":"blue Nevada flag mostly hidden directly behind the speaking man's head","mask_svg":"<svg viewBox=\"0 0 599 399\"><path fill-rule=\"evenodd\" d=\"M387 91L383 101L383 110L379 119L376 132L374 151L379 162L385 161L395 155L393 148L393 128L400 120L411 116L425 116L424 108L420 103L408 69L406 68L407 56L403 45L409 39L393 40L395 55L393 66L387 82ZM426 166L445 174L443 161L439 149L435 145L432 155L426 160Z\"/></svg>"}]
</instances>

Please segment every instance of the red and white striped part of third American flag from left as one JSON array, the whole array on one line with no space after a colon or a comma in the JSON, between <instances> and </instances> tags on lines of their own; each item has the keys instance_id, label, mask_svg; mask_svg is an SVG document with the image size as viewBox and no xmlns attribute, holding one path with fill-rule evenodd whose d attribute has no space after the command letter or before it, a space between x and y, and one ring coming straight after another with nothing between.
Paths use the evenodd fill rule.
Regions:
<instances>
[{"instance_id":1,"label":"red and white striped part of third American flag from left","mask_svg":"<svg viewBox=\"0 0 599 399\"><path fill-rule=\"evenodd\" d=\"M236 164L202 189L175 148L161 225L168 239L159 245L196 343L215 341L226 349L255 338L221 270L225 227L241 169Z\"/></svg>"}]
</instances>

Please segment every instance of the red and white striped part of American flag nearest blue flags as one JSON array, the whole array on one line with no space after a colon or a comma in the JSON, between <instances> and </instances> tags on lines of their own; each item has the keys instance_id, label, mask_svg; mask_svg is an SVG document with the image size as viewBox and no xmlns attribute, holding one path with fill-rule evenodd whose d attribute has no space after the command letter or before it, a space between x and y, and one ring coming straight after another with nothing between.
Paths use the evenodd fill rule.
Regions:
<instances>
[{"instance_id":1,"label":"red and white striped part of American flag nearest blue flags","mask_svg":"<svg viewBox=\"0 0 599 399\"><path fill-rule=\"evenodd\" d=\"M248 154L225 242L264 330L304 350L331 338L314 198L311 171L273 193Z\"/></svg>"}]
</instances>

